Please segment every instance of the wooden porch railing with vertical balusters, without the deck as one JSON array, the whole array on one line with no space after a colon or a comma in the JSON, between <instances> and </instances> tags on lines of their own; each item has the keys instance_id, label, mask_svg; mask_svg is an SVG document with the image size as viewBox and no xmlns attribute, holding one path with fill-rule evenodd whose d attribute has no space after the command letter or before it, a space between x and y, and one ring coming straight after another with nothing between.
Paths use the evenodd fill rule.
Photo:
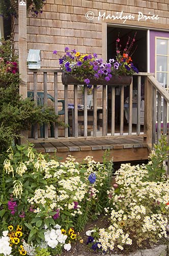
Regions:
<instances>
[{"instance_id":1,"label":"wooden porch railing with vertical balusters, without the deck","mask_svg":"<svg viewBox=\"0 0 169 256\"><path fill-rule=\"evenodd\" d=\"M43 93L44 93L44 105L47 105L47 94L48 94L48 82L47 82L47 76L48 74L52 74L54 79L54 111L55 114L58 114L59 106L58 106L58 90L59 90L59 83L58 83L58 75L61 75L61 70L51 70L51 69L40 69L40 70L29 70L29 73L33 73L34 76L34 101L37 104L38 103L38 97L37 97L37 84L38 84L38 73L43 73ZM102 132L97 131L97 122L98 122L98 105L97 105L97 86L94 86L93 90L93 129L91 134L88 133L88 106L87 106L87 86L84 86L84 107L83 107L83 134L78 135L78 86L74 85L74 97L73 97L73 103L74 103L74 110L73 110L73 134L70 135L70 127L69 120L68 120L68 103L69 103L69 84L64 85L64 101L65 101L65 113L64 113L64 121L66 124L65 127L65 134L64 136L59 136L59 127L58 124L54 124L54 137L53 139L88 139L88 138L100 138L100 137L114 137L114 136L132 136L138 135L145 137L145 143L152 146L152 143L155 142L155 136L157 132L157 138L160 138L161 134L161 97L164 98L164 106L163 106L163 133L167 134L167 115L168 115L168 109L167 109L167 103L169 102L169 96L168 93L165 91L165 89L158 83L158 81L153 77L154 74L152 73L138 73L133 75L132 82L130 86L119 87L119 98L120 98L120 111L119 111L119 119L120 119L120 125L119 125L119 131L117 131L116 128L116 122L115 119L117 117L116 113L116 88L115 87L109 87L110 90L110 102L111 106L110 109L107 110L107 86L101 86L102 87L102 106L100 107L102 109ZM134 102L134 96L133 96L133 80L136 84L134 86L134 89L136 90L137 94L137 100ZM127 92L127 103L125 102L126 98L124 95ZM144 91L144 93L143 93ZM157 124L156 124L156 91L158 95L158 107L157 107ZM141 113L143 110L141 109L141 103L142 103L142 96L144 94L144 123L141 122ZM125 108L127 104L127 108ZM135 127L133 127L132 124L132 115L133 115L133 105L136 115L136 122ZM126 110L124 112L124 110ZM124 127L124 113L127 112L127 120L128 123L125 124ZM111 119L110 127L107 128L107 117L108 119ZM143 119L143 117L142 117ZM126 131L127 127L127 131ZM143 129L144 127L144 129ZM125 128L125 129L124 129ZM134 129L133 129L134 128ZM48 134L48 125L45 124L44 127L44 138L38 139L38 125L35 125L34 127L34 139L38 139L40 141L44 141L44 139L51 139L49 138Z\"/></svg>"}]
</instances>

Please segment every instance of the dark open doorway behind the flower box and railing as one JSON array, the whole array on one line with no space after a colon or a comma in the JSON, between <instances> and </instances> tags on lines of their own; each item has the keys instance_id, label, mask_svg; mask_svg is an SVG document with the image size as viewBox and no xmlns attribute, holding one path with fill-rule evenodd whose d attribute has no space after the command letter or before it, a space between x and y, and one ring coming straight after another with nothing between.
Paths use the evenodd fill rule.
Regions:
<instances>
[{"instance_id":1,"label":"dark open doorway behind the flower box and railing","mask_svg":"<svg viewBox=\"0 0 169 256\"><path fill-rule=\"evenodd\" d=\"M139 72L147 72L147 30L124 28L124 27L107 27L107 60L114 58L116 59L116 39L119 37L121 42L121 49L123 50L126 46L128 37L133 38L136 32L135 43L133 46L132 63L138 69ZM131 51L132 52L132 51ZM115 89L115 130L119 131L120 126L120 87ZM137 94L137 78L133 77L133 97L136 98ZM129 96L129 87L124 89L124 103L127 101ZM144 100L144 80L142 81L142 99ZM110 87L107 87L107 132L111 126L111 91ZM127 118L124 115L124 132L125 127L128 129ZM125 125L126 124L126 125ZM133 127L136 124L133 122ZM126 131L127 132L127 131Z\"/></svg>"}]
</instances>

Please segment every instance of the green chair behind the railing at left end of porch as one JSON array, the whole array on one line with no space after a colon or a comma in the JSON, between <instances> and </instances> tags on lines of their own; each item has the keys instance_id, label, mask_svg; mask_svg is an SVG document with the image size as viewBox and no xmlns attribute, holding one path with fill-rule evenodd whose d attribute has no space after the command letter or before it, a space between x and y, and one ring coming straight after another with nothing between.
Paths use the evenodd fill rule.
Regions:
<instances>
[{"instance_id":1,"label":"green chair behind the railing at left end of porch","mask_svg":"<svg viewBox=\"0 0 169 256\"><path fill-rule=\"evenodd\" d=\"M37 92L37 95L38 95L38 99L37 99L38 105L43 106L44 105L44 93ZM27 97L34 99L34 92L28 91ZM47 94L47 98L54 102L54 98L50 94ZM58 102L62 103L62 110L58 111L58 115L65 115L65 100L58 100ZM50 122L50 134L51 134L51 137L54 137L54 126L53 126L52 122ZM45 124L40 126L40 135L41 135L41 138L45 137ZM32 129L31 129L31 137L32 138L34 137L34 126L32 126Z\"/></svg>"}]
</instances>

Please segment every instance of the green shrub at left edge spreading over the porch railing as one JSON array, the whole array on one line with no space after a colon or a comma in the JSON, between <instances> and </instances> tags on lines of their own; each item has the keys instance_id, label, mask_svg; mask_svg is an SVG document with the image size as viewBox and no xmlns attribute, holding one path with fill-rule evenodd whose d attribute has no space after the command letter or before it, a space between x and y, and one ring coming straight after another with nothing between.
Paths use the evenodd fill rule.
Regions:
<instances>
[{"instance_id":1,"label":"green shrub at left edge spreading over the porch railing","mask_svg":"<svg viewBox=\"0 0 169 256\"><path fill-rule=\"evenodd\" d=\"M0 44L0 152L5 152L18 138L21 130L29 130L38 123L58 122L53 108L36 106L31 98L19 95L19 73L17 57L13 54L10 40L1 39Z\"/></svg>"}]
</instances>

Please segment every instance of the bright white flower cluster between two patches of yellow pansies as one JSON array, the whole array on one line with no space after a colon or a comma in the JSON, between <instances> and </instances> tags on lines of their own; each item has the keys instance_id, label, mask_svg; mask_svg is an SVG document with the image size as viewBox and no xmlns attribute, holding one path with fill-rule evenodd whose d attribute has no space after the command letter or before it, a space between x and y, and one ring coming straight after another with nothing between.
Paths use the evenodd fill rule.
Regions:
<instances>
[{"instance_id":1,"label":"bright white flower cluster between two patches of yellow pansies","mask_svg":"<svg viewBox=\"0 0 169 256\"><path fill-rule=\"evenodd\" d=\"M64 245L64 249L69 251L71 249L71 244L66 244L67 236L62 233L61 226L57 225L55 226L55 229L52 228L51 230L47 230L44 232L45 242L47 242L47 245L54 249L57 247L57 245L60 243L61 245Z\"/></svg>"}]
</instances>

